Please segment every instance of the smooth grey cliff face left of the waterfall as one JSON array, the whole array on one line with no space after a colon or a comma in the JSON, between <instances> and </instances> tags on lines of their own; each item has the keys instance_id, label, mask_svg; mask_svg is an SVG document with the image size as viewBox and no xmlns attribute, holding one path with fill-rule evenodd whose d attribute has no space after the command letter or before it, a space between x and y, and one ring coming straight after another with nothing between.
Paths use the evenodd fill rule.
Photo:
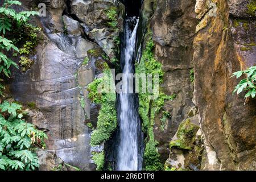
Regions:
<instances>
[{"instance_id":1,"label":"smooth grey cliff face left of the waterfall","mask_svg":"<svg viewBox=\"0 0 256 182\"><path fill-rule=\"evenodd\" d=\"M87 85L102 73L99 62L104 60L96 51L108 60L117 56L115 39L122 31L124 7L116 1L43 2L46 17L34 22L42 27L44 40L31 55L31 69L15 73L11 94L27 105L32 122L48 134L47 150L38 151L41 170L63 162L95 169L92 129L86 123L97 125L100 106L90 102ZM30 9L39 2L22 3ZM111 10L117 20L110 17Z\"/></svg>"}]
</instances>

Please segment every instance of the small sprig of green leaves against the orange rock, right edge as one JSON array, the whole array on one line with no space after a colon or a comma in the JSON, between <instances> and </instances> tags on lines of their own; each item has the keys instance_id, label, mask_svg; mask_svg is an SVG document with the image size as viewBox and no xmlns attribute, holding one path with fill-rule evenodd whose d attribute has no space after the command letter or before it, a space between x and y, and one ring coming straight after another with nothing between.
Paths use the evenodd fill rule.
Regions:
<instances>
[{"instance_id":1,"label":"small sprig of green leaves against the orange rock, right edge","mask_svg":"<svg viewBox=\"0 0 256 182\"><path fill-rule=\"evenodd\" d=\"M246 78L239 82L233 93L237 92L237 94L240 94L242 91L245 91L245 98L254 98L256 95L256 66L250 67L245 71L238 71L233 73L233 76L236 76L237 79L242 75L246 75Z\"/></svg>"}]
</instances>

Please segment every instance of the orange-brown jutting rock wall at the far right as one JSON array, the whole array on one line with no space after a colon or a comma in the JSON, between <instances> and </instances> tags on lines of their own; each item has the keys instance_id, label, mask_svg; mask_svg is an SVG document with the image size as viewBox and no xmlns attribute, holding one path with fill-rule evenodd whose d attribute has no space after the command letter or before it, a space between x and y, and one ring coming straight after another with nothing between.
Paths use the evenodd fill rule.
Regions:
<instances>
[{"instance_id":1,"label":"orange-brown jutting rock wall at the far right","mask_svg":"<svg viewBox=\"0 0 256 182\"><path fill-rule=\"evenodd\" d=\"M232 94L238 81L230 78L233 72L255 65L254 47L241 53L237 46L255 42L255 27L254 21L248 21L248 29L242 30L242 22L230 28L230 20L236 19L229 14L241 16L244 6L244 1L233 2L241 7L239 11L233 11L234 6L228 11L230 1L217 1L217 16L206 18L207 26L194 40L195 102L206 143L216 152L214 160L219 164L203 169L255 169L255 100L244 105L243 94Z\"/></svg>"}]
</instances>

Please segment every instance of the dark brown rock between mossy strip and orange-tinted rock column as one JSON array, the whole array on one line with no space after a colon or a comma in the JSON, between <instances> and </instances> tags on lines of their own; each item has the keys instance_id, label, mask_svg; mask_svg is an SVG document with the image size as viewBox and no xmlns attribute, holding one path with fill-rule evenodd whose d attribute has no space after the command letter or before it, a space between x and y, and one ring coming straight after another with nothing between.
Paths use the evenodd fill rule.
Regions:
<instances>
[{"instance_id":1,"label":"dark brown rock between mossy strip and orange-tinted rock column","mask_svg":"<svg viewBox=\"0 0 256 182\"><path fill-rule=\"evenodd\" d=\"M179 124L187 118L187 113L194 106L192 102L193 84L189 73L193 69L192 42L197 24L193 13L195 1L158 1L151 19L155 57L163 64L163 92L176 94L174 101L167 101L164 111L171 114L164 130L161 130L160 113L156 116L154 133L160 143L158 148L165 161L169 154L169 142L175 135Z\"/></svg>"}]
</instances>

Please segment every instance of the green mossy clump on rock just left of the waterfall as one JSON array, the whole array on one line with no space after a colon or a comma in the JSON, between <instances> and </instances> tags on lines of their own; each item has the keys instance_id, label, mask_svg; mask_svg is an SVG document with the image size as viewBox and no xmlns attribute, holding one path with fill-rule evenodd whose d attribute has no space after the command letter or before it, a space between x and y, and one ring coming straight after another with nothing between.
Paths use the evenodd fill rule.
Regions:
<instances>
[{"instance_id":1,"label":"green mossy clump on rock just left of the waterfall","mask_svg":"<svg viewBox=\"0 0 256 182\"><path fill-rule=\"evenodd\" d=\"M97 129L93 131L90 144L97 146L108 140L117 129L117 111L115 108L115 93L110 93L110 80L113 79L110 70L105 70L104 77L96 78L88 85L88 97L95 104L101 104L98 115Z\"/></svg>"}]
</instances>

